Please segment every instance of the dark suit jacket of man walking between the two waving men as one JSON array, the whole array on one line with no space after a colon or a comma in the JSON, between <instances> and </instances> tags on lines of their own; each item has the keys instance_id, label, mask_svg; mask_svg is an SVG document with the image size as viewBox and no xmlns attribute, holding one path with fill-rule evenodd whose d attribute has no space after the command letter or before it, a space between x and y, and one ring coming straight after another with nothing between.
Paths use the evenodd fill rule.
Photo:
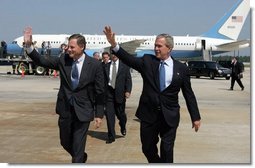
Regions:
<instances>
[{"instance_id":1,"label":"dark suit jacket of man walking between the two waving men","mask_svg":"<svg viewBox=\"0 0 255 168\"><path fill-rule=\"evenodd\" d=\"M104 66L105 79L106 79L107 85L110 81L110 78L109 78L110 66L111 66L111 62L109 62L108 64L105 64L105 66ZM115 92L115 102L117 102L117 103L125 102L126 101L125 92L131 93L131 90L132 90L132 78L131 78L131 73L130 73L130 67L123 64L119 60L119 67L118 67L118 72L117 72L117 76L116 76L116 84L115 84L115 91L114 91Z\"/></svg>"}]
</instances>

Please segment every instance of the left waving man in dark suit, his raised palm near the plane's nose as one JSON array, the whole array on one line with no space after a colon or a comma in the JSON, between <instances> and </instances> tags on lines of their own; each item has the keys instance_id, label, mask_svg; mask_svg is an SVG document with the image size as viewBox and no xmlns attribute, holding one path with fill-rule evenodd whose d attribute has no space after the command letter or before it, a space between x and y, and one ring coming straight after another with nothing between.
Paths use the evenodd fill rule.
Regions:
<instances>
[{"instance_id":1,"label":"left waving man in dark suit, his raised palm near the plane's nose","mask_svg":"<svg viewBox=\"0 0 255 168\"><path fill-rule=\"evenodd\" d=\"M89 124L95 118L95 126L99 127L104 115L101 62L84 54L86 41L80 34L69 37L67 53L60 57L41 56L31 45L31 28L25 29L24 41L26 51L35 64L60 72L56 103L60 142L72 156L73 163L86 162L85 145ZM96 114L93 111L95 102Z\"/></svg>"}]
</instances>

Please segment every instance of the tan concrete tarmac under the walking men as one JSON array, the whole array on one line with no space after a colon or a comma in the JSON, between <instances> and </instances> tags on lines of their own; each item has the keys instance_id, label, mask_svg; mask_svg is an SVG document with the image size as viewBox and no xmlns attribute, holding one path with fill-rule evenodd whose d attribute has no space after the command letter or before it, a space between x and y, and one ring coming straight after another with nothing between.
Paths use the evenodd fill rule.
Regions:
<instances>
[{"instance_id":1,"label":"tan concrete tarmac under the walking men","mask_svg":"<svg viewBox=\"0 0 255 168\"><path fill-rule=\"evenodd\" d=\"M59 143L55 103L59 77L6 74L11 66L0 66L0 162L11 164L66 164L71 157ZM177 130L174 162L177 164L251 164L251 79L246 68L241 91L230 80L191 78L202 117L198 132L192 129L182 93L181 121ZM135 117L142 79L132 73L133 89L126 103L127 135L106 144L106 120L99 129L91 123L86 152L88 164L144 164L140 125Z\"/></svg>"}]
</instances>

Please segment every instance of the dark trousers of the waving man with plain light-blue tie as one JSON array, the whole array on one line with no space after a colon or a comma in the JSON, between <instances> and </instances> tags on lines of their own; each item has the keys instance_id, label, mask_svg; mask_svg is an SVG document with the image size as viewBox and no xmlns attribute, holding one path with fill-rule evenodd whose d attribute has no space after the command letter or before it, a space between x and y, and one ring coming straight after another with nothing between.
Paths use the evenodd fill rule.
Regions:
<instances>
[{"instance_id":1,"label":"dark trousers of the waving man with plain light-blue tie","mask_svg":"<svg viewBox=\"0 0 255 168\"><path fill-rule=\"evenodd\" d=\"M173 163L174 141L177 127L167 125L164 117L160 117L155 123L141 121L140 137L142 151L149 163ZM160 142L160 155L157 143Z\"/></svg>"}]
</instances>

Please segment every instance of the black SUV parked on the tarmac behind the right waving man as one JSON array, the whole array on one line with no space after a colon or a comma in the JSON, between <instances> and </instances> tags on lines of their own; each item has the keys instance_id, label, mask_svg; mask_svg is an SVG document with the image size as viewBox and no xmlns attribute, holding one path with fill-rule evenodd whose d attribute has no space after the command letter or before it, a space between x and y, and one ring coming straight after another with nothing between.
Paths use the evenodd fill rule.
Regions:
<instances>
[{"instance_id":1,"label":"black SUV parked on the tarmac behind the right waving man","mask_svg":"<svg viewBox=\"0 0 255 168\"><path fill-rule=\"evenodd\" d=\"M208 76L210 79L215 77L225 77L230 79L231 69L224 68L215 61L189 61L188 62L190 76Z\"/></svg>"}]
</instances>

